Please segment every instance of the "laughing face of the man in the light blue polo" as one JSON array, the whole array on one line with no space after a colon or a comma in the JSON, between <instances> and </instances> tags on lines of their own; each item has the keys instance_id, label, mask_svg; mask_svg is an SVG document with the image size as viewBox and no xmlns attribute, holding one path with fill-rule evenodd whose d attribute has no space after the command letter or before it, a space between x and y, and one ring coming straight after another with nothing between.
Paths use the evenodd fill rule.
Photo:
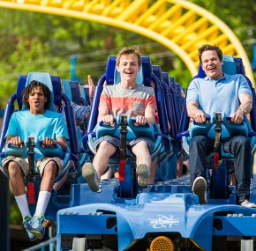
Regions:
<instances>
[{"instance_id":1,"label":"laughing face of the man in the light blue polo","mask_svg":"<svg viewBox=\"0 0 256 251\"><path fill-rule=\"evenodd\" d=\"M217 55L215 50L206 50L201 55L202 69L207 77L215 80L223 77L222 60Z\"/></svg>"}]
</instances>

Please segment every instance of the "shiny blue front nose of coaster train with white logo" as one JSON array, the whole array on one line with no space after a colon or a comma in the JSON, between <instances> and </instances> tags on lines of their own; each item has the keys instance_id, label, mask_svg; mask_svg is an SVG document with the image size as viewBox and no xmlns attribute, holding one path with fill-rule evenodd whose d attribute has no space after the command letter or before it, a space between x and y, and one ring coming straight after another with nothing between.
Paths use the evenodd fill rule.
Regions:
<instances>
[{"instance_id":1,"label":"shiny blue front nose of coaster train with white logo","mask_svg":"<svg viewBox=\"0 0 256 251\"><path fill-rule=\"evenodd\" d=\"M88 124L88 132L95 124ZM254 250L255 209L226 199L200 205L184 181L155 184L123 200L113 189L92 195L84 186L73 185L71 207L57 212L58 251Z\"/></svg>"}]
</instances>

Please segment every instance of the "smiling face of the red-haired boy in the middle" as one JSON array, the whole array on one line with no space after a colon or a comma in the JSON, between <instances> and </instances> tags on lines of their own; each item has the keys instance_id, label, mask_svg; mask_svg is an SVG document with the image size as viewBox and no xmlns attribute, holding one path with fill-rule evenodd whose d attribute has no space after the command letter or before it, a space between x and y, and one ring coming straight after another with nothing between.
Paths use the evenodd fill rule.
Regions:
<instances>
[{"instance_id":1,"label":"smiling face of the red-haired boy in the middle","mask_svg":"<svg viewBox=\"0 0 256 251\"><path fill-rule=\"evenodd\" d=\"M121 82L136 84L136 77L140 70L138 56L135 54L122 55L117 70L120 72Z\"/></svg>"}]
</instances>

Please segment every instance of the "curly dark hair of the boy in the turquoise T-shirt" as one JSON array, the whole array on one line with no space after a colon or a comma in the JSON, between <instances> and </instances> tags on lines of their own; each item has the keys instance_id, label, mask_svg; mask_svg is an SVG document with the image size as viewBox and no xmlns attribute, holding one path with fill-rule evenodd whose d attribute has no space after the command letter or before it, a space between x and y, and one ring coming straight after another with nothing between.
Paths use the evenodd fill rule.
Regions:
<instances>
[{"instance_id":1,"label":"curly dark hair of the boy in the turquoise T-shirt","mask_svg":"<svg viewBox=\"0 0 256 251\"><path fill-rule=\"evenodd\" d=\"M44 108L49 109L51 103L49 87L36 80L32 80L28 85L26 85L25 89L22 91L22 103L26 108L29 109L29 94L32 93L35 87L41 87L44 96L47 98L47 102L45 102Z\"/></svg>"}]
</instances>

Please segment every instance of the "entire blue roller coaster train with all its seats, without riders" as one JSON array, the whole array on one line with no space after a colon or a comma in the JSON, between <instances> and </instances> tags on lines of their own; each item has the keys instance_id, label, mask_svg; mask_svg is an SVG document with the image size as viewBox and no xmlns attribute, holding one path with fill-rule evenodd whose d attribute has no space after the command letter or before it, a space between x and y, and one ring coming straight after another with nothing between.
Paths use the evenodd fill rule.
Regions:
<instances>
[{"instance_id":1,"label":"entire blue roller coaster train with all its seats, without riders","mask_svg":"<svg viewBox=\"0 0 256 251\"><path fill-rule=\"evenodd\" d=\"M224 72L245 75L240 58L225 55ZM91 115L82 129L76 126L72 102L87 105L89 99L85 88L79 82L62 80L45 72L31 72L19 76L17 90L11 95L5 110L0 135L1 162L8 154L28 156L31 173L26 178L30 209L35 210L40 176L34 169L36 159L57 155L64 159L64 169L56 178L45 217L56 221L56 249L68 250L141 250L141 251L227 251L255 250L256 210L236 204L236 189L229 185L229 173L210 180L207 204L199 204L199 197L191 192L190 177L176 179L177 158L186 151L189 154L189 140L196 134L215 135L215 119L208 118L205 125L190 123L186 114L185 99L179 85L168 73L152 65L149 57L142 57L142 67L137 83L154 87L157 100L159 122L154 126L136 127L129 116L120 115L114 128L97 123L98 105L103 85L115 85L120 76L116 69L116 57L109 56L106 72L95 86ZM204 78L199 67L195 78ZM11 114L23 109L21 92L31 80L39 80L49 86L52 92L51 109L64 108L70 135L69 151L62 152L57 147L41 150L40 141L34 137L26 139L23 149L11 145L4 146L5 133ZM255 151L256 110L255 91L250 122L245 120L236 128L227 122L224 114L221 120L223 137L225 134L242 133L250 137L252 157ZM62 87L63 84L63 87ZM17 108L15 107L17 102ZM86 130L86 131L85 131ZM116 178L101 181L101 192L94 193L81 176L81 166L92 161L95 154L94 141L104 134L120 136L120 159L110 159L109 168L118 168ZM158 171L154 185L139 188L132 155L126 149L126 141L147 135L154 138L152 160L158 159ZM33 152L33 154L31 154ZM222 168L232 169L232 156L222 151ZM208 156L209 173L214 172L214 153ZM2 166L1 166L1 170ZM220 172L221 173L221 172ZM252 173L251 201L256 203L256 188ZM228 192L227 192L228 191Z\"/></svg>"}]
</instances>

